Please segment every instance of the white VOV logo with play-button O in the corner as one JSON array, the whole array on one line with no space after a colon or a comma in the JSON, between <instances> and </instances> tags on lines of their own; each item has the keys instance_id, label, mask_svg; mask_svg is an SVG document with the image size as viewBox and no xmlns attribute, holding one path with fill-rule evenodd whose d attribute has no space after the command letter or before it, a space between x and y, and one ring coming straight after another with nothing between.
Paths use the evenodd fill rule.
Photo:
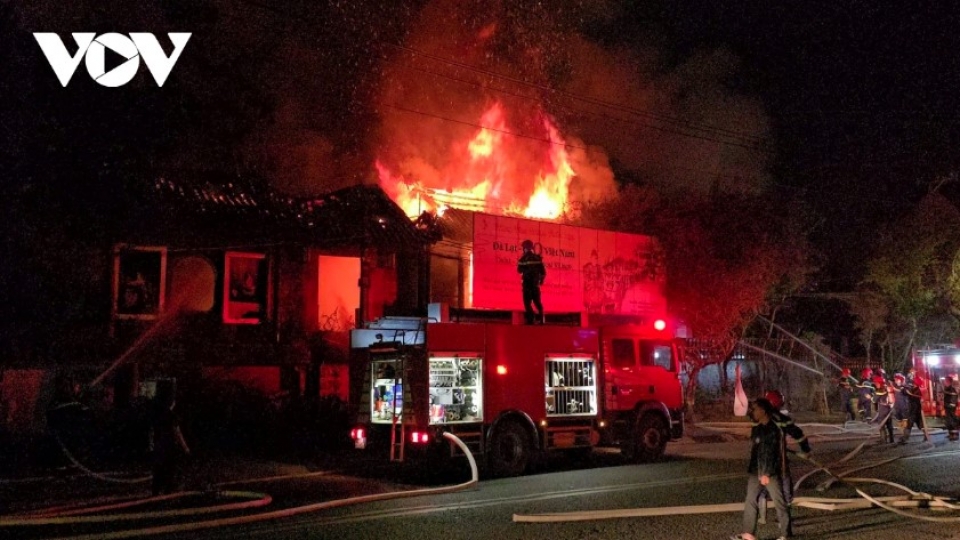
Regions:
<instances>
[{"instance_id":1,"label":"white VOV logo with play-button O in the corner","mask_svg":"<svg viewBox=\"0 0 960 540\"><path fill-rule=\"evenodd\" d=\"M147 65L147 70L153 75L153 79L157 81L157 86L163 86L191 34L170 32L167 36L173 42L173 53L170 56L163 52L157 38L147 32L130 32L130 37L113 32L99 36L93 32L74 32L73 40L77 42L77 52L71 56L57 34L53 32L33 34L44 56L47 57L47 62L64 87L73 78L77 67L80 66L80 60L83 59L86 61L90 78L101 86L111 88L123 86L133 80L140 69L141 58ZM110 71L106 68L107 49L126 59Z\"/></svg>"}]
</instances>

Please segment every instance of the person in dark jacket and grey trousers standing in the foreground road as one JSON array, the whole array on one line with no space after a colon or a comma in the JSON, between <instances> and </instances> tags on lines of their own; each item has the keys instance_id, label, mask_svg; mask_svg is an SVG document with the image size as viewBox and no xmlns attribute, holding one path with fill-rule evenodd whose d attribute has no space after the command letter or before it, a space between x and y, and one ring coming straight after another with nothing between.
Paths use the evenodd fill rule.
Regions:
<instances>
[{"instance_id":1,"label":"person in dark jacket and grey trousers standing in the foreground road","mask_svg":"<svg viewBox=\"0 0 960 540\"><path fill-rule=\"evenodd\" d=\"M743 505L743 532L732 536L731 540L756 540L758 500L761 489L767 494L777 509L777 522L780 536L777 540L793 535L793 520L790 506L783 493L783 477L788 474L787 445L783 430L774 420L779 411L765 398L750 404L749 415L754 421L750 430L750 465L747 467L747 496Z\"/></svg>"}]
</instances>

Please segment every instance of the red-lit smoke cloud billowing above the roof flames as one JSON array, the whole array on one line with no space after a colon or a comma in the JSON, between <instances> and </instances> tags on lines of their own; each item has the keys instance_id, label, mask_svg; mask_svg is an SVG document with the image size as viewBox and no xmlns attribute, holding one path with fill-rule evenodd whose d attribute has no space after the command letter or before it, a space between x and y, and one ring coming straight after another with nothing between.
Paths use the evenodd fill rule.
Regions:
<instances>
[{"instance_id":1,"label":"red-lit smoke cloud billowing above the roof flames","mask_svg":"<svg viewBox=\"0 0 960 540\"><path fill-rule=\"evenodd\" d=\"M402 4L313 8L325 11L305 17L311 30L289 35L273 31L287 23L259 21L278 40L275 69L259 83L275 106L243 154L278 188L313 194L375 182L379 163L449 190L469 172L458 166L463 146L494 103L514 156L502 165L511 181L498 186L500 198L529 197L557 144L545 118L576 173L574 200L606 198L627 178L700 192L768 182L767 116L736 90L742 67L729 51L678 62L662 40L628 26L622 0Z\"/></svg>"}]
</instances>

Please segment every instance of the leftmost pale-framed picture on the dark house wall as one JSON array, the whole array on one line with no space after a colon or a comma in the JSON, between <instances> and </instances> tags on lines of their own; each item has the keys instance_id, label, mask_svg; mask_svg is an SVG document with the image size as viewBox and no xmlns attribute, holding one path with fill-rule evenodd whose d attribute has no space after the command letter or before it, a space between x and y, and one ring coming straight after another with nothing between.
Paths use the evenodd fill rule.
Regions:
<instances>
[{"instance_id":1,"label":"leftmost pale-framed picture on the dark house wall","mask_svg":"<svg viewBox=\"0 0 960 540\"><path fill-rule=\"evenodd\" d=\"M113 316L155 319L163 311L167 248L119 244L113 250Z\"/></svg>"}]
</instances>

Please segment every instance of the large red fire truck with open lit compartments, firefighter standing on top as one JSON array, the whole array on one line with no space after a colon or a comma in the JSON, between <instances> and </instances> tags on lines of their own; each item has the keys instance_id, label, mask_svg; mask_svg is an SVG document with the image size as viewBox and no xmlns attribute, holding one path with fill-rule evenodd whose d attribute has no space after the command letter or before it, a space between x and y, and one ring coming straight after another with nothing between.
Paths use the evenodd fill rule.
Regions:
<instances>
[{"instance_id":1,"label":"large red fire truck with open lit compartments, firefighter standing on top","mask_svg":"<svg viewBox=\"0 0 960 540\"><path fill-rule=\"evenodd\" d=\"M450 432L497 476L523 474L546 452L601 445L653 461L683 434L678 337L675 325L653 318L385 317L352 331L354 365L365 372L352 438L404 461L455 456L442 437Z\"/></svg>"}]
</instances>

